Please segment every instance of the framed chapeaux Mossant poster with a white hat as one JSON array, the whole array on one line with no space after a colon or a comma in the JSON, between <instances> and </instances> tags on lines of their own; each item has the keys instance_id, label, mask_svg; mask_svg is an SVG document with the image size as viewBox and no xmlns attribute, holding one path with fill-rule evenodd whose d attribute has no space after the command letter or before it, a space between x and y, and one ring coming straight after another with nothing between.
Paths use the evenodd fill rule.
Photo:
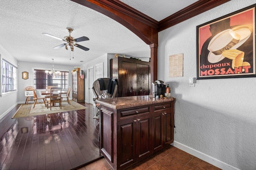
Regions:
<instances>
[{"instance_id":1,"label":"framed chapeaux Mossant poster with a white hat","mask_svg":"<svg viewBox=\"0 0 256 170\"><path fill-rule=\"evenodd\" d=\"M256 76L255 6L196 27L197 79Z\"/></svg>"}]
</instances>

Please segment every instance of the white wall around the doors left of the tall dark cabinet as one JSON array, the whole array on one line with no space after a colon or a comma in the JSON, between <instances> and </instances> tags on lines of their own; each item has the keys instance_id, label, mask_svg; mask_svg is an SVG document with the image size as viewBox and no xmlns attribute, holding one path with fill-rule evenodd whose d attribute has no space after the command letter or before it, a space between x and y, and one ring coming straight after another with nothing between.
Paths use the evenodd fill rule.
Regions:
<instances>
[{"instance_id":1,"label":"white wall around the doors left of the tall dark cabinet","mask_svg":"<svg viewBox=\"0 0 256 170\"><path fill-rule=\"evenodd\" d=\"M89 94L88 94L88 68L91 68L93 67L94 68L94 80L96 79L96 68L95 68L95 65L96 64L99 64L99 63L102 63L103 62L103 75L104 77L110 77L110 59L111 58L114 58L114 55L112 54L104 54L92 61L89 61L88 63L85 63L85 64L82 64L80 66L80 69L81 70L84 70L84 96L85 96L85 102L86 103L90 103L90 100L89 100ZM92 88L92 87L90 87Z\"/></svg>"}]
</instances>

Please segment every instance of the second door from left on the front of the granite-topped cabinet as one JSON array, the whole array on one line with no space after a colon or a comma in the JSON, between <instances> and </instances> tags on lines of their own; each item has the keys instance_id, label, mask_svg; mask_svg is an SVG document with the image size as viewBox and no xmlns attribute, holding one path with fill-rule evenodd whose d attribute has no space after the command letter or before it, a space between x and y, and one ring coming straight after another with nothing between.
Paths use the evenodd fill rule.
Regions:
<instances>
[{"instance_id":1,"label":"second door from left on the front of the granite-topped cabinet","mask_svg":"<svg viewBox=\"0 0 256 170\"><path fill-rule=\"evenodd\" d=\"M151 126L151 115L137 117L137 162L152 153Z\"/></svg>"}]
</instances>

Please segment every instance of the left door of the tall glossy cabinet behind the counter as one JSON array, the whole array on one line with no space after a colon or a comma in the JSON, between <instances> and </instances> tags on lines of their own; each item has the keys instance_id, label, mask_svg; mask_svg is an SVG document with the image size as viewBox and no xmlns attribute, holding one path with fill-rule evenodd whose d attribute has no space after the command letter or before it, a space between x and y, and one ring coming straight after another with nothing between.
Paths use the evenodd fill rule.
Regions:
<instances>
[{"instance_id":1,"label":"left door of the tall glossy cabinet behind the counter","mask_svg":"<svg viewBox=\"0 0 256 170\"><path fill-rule=\"evenodd\" d=\"M137 73L136 63L122 61L122 97L136 96ZM120 80L119 80L120 81Z\"/></svg>"}]
</instances>

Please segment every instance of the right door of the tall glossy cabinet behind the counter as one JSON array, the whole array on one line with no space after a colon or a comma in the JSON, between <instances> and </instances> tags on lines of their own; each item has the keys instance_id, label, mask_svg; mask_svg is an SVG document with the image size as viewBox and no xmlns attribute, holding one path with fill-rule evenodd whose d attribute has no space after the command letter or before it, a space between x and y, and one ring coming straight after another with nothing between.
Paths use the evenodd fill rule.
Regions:
<instances>
[{"instance_id":1,"label":"right door of the tall glossy cabinet behind the counter","mask_svg":"<svg viewBox=\"0 0 256 170\"><path fill-rule=\"evenodd\" d=\"M137 64L137 96L149 95L150 67L144 64Z\"/></svg>"}]
</instances>

